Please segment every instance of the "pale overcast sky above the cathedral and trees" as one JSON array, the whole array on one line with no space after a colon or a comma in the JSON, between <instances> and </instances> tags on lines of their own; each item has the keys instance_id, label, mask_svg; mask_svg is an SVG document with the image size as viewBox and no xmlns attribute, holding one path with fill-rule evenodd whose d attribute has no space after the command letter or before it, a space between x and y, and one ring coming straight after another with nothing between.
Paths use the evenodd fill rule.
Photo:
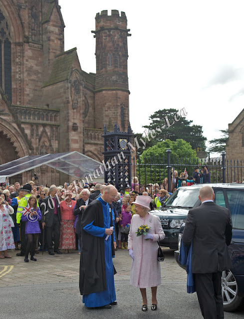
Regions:
<instances>
[{"instance_id":1,"label":"pale overcast sky above the cathedral and trees","mask_svg":"<svg viewBox=\"0 0 244 319\"><path fill-rule=\"evenodd\" d=\"M160 109L182 109L221 136L244 108L244 1L59 0L65 50L77 47L81 68L96 72L95 15L124 11L128 37L130 123L142 133ZM139 5L140 4L140 5Z\"/></svg>"}]
</instances>

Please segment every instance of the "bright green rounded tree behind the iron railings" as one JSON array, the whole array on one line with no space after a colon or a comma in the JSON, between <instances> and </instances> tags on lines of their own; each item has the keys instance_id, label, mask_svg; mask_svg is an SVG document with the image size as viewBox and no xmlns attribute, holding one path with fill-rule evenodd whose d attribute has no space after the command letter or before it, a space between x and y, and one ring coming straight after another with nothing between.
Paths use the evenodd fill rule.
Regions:
<instances>
[{"instance_id":1,"label":"bright green rounded tree behind the iron railings","mask_svg":"<svg viewBox=\"0 0 244 319\"><path fill-rule=\"evenodd\" d=\"M179 174L185 170L185 167L189 176L193 174L193 166L199 159L190 143L182 139L177 139L176 141L166 140L148 148L137 159L137 176L140 175L140 183L142 185L151 182L162 183L163 179L167 177L167 149L172 152L171 166L174 166L179 171Z\"/></svg>"}]
</instances>

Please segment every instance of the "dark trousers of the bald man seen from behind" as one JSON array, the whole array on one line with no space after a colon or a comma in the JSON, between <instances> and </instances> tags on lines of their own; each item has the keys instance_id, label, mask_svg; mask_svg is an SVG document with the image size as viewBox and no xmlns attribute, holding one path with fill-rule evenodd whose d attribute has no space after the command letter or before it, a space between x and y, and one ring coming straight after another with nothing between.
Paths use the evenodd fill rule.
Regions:
<instances>
[{"instance_id":1,"label":"dark trousers of the bald man seen from behind","mask_svg":"<svg viewBox=\"0 0 244 319\"><path fill-rule=\"evenodd\" d=\"M198 301L204 319L224 319L222 273L194 275Z\"/></svg>"}]
</instances>

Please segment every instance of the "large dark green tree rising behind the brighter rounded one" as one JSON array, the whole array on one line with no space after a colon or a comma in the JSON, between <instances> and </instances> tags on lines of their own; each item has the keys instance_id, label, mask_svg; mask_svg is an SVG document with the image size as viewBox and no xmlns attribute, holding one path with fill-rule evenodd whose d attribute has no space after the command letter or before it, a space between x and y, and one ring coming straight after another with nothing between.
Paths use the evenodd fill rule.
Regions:
<instances>
[{"instance_id":1,"label":"large dark green tree rising behind the brighter rounded one","mask_svg":"<svg viewBox=\"0 0 244 319\"><path fill-rule=\"evenodd\" d=\"M179 115L176 109L163 109L156 111L149 117L150 125L143 126L149 131L157 130L157 137L150 142L147 141L146 149L156 145L158 142L167 139L176 141L177 139L184 139L184 141L191 144L194 150L206 150L205 141L207 138L203 136L202 126L192 125L193 121L186 120L185 117ZM161 130L161 132L159 131ZM143 134L137 134L138 140ZM143 149L138 150L137 155L141 155Z\"/></svg>"}]
</instances>

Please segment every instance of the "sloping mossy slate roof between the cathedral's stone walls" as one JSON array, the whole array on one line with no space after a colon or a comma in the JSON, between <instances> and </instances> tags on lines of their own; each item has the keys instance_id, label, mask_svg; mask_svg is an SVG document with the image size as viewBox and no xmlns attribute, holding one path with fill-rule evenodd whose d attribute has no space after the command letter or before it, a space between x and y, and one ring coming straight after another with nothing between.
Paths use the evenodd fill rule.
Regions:
<instances>
[{"instance_id":1,"label":"sloping mossy slate roof between the cathedral's stone walls","mask_svg":"<svg viewBox=\"0 0 244 319\"><path fill-rule=\"evenodd\" d=\"M76 48L57 54L55 56L49 80L43 83L42 87L68 80L75 55Z\"/></svg>"}]
</instances>

